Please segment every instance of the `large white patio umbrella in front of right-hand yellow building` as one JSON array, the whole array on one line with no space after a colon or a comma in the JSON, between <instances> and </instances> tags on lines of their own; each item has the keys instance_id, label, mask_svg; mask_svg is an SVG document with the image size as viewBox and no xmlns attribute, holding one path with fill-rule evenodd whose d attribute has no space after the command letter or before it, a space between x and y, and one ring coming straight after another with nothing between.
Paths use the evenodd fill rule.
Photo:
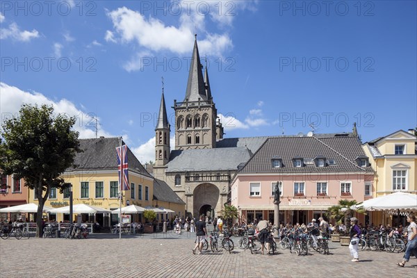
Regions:
<instances>
[{"instance_id":1,"label":"large white patio umbrella in front of right-hand yellow building","mask_svg":"<svg viewBox=\"0 0 417 278\"><path fill-rule=\"evenodd\" d=\"M374 199L368 199L356 206L366 211L389 211L396 209L417 211L417 194L396 192Z\"/></svg>"}]
</instances>

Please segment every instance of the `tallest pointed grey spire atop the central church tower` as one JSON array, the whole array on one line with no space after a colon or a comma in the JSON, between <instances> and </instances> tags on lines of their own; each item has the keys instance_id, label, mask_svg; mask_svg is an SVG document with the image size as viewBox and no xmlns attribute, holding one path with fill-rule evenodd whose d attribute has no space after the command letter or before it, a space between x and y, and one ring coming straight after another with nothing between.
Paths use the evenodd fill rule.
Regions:
<instances>
[{"instance_id":1,"label":"tallest pointed grey spire atop the central church tower","mask_svg":"<svg viewBox=\"0 0 417 278\"><path fill-rule=\"evenodd\" d=\"M188 101L198 101L199 98L202 100L207 100L206 88L202 72L202 63L200 63L197 47L197 34L195 34L193 56L191 57L190 72L188 74L185 99L188 99Z\"/></svg>"}]
</instances>

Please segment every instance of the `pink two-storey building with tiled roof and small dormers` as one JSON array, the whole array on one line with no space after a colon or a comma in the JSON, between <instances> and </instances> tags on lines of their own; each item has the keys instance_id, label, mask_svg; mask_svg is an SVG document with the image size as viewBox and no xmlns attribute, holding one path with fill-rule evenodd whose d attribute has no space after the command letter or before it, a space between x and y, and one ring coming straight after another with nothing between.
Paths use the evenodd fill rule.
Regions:
<instances>
[{"instance_id":1,"label":"pink two-storey building with tiled roof and small dormers","mask_svg":"<svg viewBox=\"0 0 417 278\"><path fill-rule=\"evenodd\" d=\"M352 133L268 138L231 181L231 204L247 222L274 222L274 188L280 191L279 222L308 223L327 216L341 199L372 195L374 171ZM357 215L365 224L364 215Z\"/></svg>"}]
</instances>

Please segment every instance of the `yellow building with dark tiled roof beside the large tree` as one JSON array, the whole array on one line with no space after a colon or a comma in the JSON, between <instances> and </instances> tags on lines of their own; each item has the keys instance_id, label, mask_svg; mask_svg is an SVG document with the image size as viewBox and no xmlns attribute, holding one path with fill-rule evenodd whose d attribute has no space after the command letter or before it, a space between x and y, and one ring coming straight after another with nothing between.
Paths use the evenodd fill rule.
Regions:
<instances>
[{"instance_id":1,"label":"yellow building with dark tiled roof beside the large tree","mask_svg":"<svg viewBox=\"0 0 417 278\"><path fill-rule=\"evenodd\" d=\"M73 204L88 204L99 208L114 210L119 208L119 182L116 147L120 146L120 138L94 138L80 139L80 147L83 152L76 154L74 165L63 174L65 182L72 184ZM138 206L165 206L172 207L177 212L182 212L185 206L181 202L174 203L174 199L154 201L154 177L149 174L136 156L128 148L129 184L130 189L123 191L122 206L136 204ZM165 188L166 190L166 188ZM172 190L171 190L172 191ZM173 191L172 194L176 195ZM29 201L38 202L29 192ZM171 202L170 202L171 201ZM158 204L159 202L159 204ZM70 205L70 189L60 193L56 188L51 188L49 198L44 204L53 208ZM174 211L174 209L172 209ZM111 213L96 213L95 215L83 214L83 222L99 222L104 227L118 222L118 215ZM132 221L145 222L142 214L132 215ZM166 216L165 216L166 217ZM162 215L158 215L161 219ZM74 215L74 220L76 220ZM70 215L66 213L50 214L49 220L67 221Z\"/></svg>"}]
</instances>

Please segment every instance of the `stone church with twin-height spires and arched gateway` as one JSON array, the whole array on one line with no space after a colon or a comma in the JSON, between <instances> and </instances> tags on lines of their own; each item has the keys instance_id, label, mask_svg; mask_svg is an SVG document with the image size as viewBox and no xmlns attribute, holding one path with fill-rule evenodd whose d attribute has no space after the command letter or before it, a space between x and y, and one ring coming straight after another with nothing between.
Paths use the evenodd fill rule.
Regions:
<instances>
[{"instance_id":1,"label":"stone church with twin-height spires and arched gateway","mask_svg":"<svg viewBox=\"0 0 417 278\"><path fill-rule=\"evenodd\" d=\"M197 39L186 95L183 101L174 100L173 107L175 149L171 150L172 127L162 93L155 128L154 177L165 181L186 202L186 213L214 218L228 201L229 183L238 165L247 162L266 138L223 138L207 68L203 75Z\"/></svg>"}]
</instances>

